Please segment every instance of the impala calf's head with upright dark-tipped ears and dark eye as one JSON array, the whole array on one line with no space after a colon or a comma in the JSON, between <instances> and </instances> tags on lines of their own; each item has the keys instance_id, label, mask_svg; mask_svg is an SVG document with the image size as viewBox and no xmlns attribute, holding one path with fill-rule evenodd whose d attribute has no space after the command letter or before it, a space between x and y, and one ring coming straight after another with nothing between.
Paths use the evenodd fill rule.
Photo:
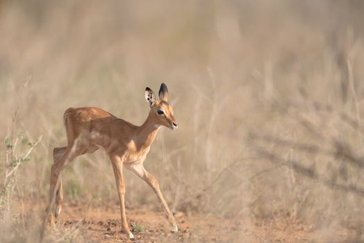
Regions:
<instances>
[{"instance_id":1,"label":"impala calf's head with upright dark-tipped ears and dark eye","mask_svg":"<svg viewBox=\"0 0 364 243\"><path fill-rule=\"evenodd\" d=\"M149 87L145 88L145 99L151 107L151 115L153 115L156 123L160 126L166 126L172 130L178 128L176 119L173 117L172 106L168 103L167 85L162 83L158 92L159 99Z\"/></svg>"}]
</instances>

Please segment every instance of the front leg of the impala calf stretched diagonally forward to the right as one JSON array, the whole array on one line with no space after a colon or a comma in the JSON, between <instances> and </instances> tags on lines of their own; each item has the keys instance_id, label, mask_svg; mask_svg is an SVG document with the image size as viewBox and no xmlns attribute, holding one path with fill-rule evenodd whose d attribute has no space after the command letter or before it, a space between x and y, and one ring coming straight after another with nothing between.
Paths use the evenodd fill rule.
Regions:
<instances>
[{"instance_id":1,"label":"front leg of the impala calf stretched diagonally forward to the right","mask_svg":"<svg viewBox=\"0 0 364 243\"><path fill-rule=\"evenodd\" d=\"M142 164L126 165L126 167L128 169L130 169L131 171L133 171L137 176L142 178L151 187L151 189L154 190L154 192L156 193L156 195L158 197L159 202L162 204L163 209L165 210L167 219L172 226L171 231L173 233L177 233L178 227L177 227L176 219L174 218L171 210L169 209L167 203L165 202L162 192L160 192L160 188L159 188L157 179L152 174L150 174L146 169L144 169L144 166Z\"/></svg>"}]
</instances>

